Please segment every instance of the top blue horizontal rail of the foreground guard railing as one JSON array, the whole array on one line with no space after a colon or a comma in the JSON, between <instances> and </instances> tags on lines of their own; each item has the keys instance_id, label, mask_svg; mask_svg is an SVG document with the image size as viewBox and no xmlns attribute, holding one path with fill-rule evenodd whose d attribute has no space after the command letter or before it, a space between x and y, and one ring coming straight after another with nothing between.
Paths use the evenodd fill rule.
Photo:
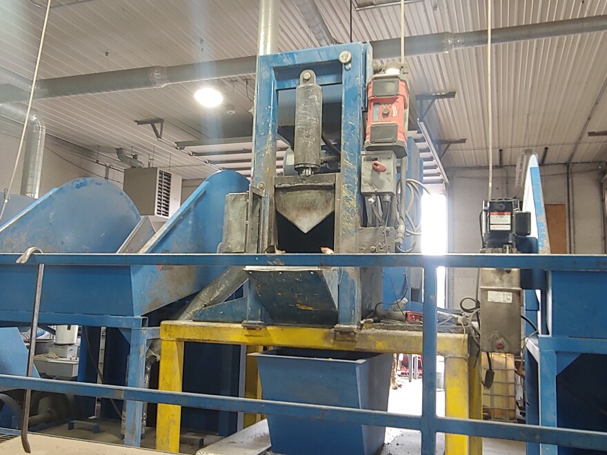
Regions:
<instances>
[{"instance_id":1,"label":"top blue horizontal rail of the foreground guard railing","mask_svg":"<svg viewBox=\"0 0 607 455\"><path fill-rule=\"evenodd\" d=\"M0 254L0 265L19 254ZM288 265L299 267L499 267L607 271L607 256L577 254L32 254L28 265ZM23 265L19 265L23 267Z\"/></svg>"}]
</instances>

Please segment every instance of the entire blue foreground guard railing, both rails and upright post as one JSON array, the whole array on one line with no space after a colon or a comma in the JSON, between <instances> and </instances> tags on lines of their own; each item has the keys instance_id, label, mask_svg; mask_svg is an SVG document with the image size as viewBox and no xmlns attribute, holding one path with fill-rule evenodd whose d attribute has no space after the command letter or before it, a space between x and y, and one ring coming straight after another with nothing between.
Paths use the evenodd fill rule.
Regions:
<instances>
[{"instance_id":1,"label":"entire blue foreground guard railing, both rails and upright post","mask_svg":"<svg viewBox=\"0 0 607 455\"><path fill-rule=\"evenodd\" d=\"M0 254L0 265L15 265L17 254ZM44 263L47 267L60 265L272 265L275 254L35 254L32 265ZM436 415L437 306L436 269L445 267L524 268L540 271L607 272L605 256L542 255L542 254L281 254L283 265L308 267L423 267L424 268L424 325L423 354L426 359L421 416L407 416L389 412L355 410L351 408L285 403L232 396L171 393L135 387L116 387L89 383L72 383L50 379L24 378L0 375L0 387L31 388L57 393L77 393L148 403L166 403L187 407L251 414L277 414L315 418L366 425L408 428L421 431L423 454L435 454L437 432L468 434L488 438L505 438L529 443L544 443L561 447L579 447L600 450L607 447L607 433L564 429L555 425L521 425L473 421ZM94 279L92 276L90 279ZM588 347L590 352L607 354L607 341L589 343L573 340L577 349Z\"/></svg>"}]
</instances>

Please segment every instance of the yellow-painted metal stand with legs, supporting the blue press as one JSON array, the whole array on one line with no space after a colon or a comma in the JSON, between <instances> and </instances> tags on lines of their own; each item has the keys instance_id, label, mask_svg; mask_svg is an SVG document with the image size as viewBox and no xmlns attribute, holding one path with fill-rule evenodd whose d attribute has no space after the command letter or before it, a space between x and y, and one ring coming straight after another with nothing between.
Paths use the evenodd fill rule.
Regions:
<instances>
[{"instance_id":1,"label":"yellow-painted metal stand with legs, supporting the blue press","mask_svg":"<svg viewBox=\"0 0 607 455\"><path fill-rule=\"evenodd\" d=\"M268 326L258 330L240 324L166 321L160 329L162 357L159 390L181 392L184 343L219 343L257 347L299 347L306 349L422 353L422 332L362 329L355 338L336 338L328 328ZM437 352L445 357L445 414L448 417L482 418L479 362L469 361L468 336L439 333ZM246 398L261 398L257 384L257 366L248 356ZM177 452L181 407L159 405L157 449ZM255 416L248 423L255 422ZM480 454L481 438L446 435L446 454Z\"/></svg>"}]
</instances>

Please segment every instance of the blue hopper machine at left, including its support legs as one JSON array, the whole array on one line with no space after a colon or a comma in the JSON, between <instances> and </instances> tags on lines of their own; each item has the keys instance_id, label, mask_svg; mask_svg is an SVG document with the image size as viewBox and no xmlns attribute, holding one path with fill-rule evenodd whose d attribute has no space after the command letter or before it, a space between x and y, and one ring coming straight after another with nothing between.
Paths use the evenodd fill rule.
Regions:
<instances>
[{"instance_id":1,"label":"blue hopper machine at left, including its support legs","mask_svg":"<svg viewBox=\"0 0 607 455\"><path fill-rule=\"evenodd\" d=\"M243 192L247 188L248 180L237 172L226 170L213 174L158 232L142 231L149 237L138 252L217 252L223 230L226 194ZM30 246L37 246L45 253L116 253L137 230L140 221L137 208L116 185L103 179L77 179L48 192L2 225L0 252L22 253ZM79 381L94 383L97 382L94 363L99 360L99 327L108 327L106 382L141 387L147 345L157 336L157 332L148 330L148 323L159 325L162 319L171 319L185 304L184 299L199 292L223 270L225 267L221 266L46 267L40 323L83 326L78 378ZM30 323L36 276L36 265L0 266L0 289L3 290L0 296L1 325ZM159 313L165 307L169 310ZM14 332L16 329L6 330ZM7 336L12 332L6 332ZM127 358L128 366L125 367ZM216 381L221 390L217 392L238 394L239 347L201 346L190 350L188 358L195 365L192 367L195 370L200 370L208 360L223 362L221 377ZM0 367L6 366L6 361L0 358ZM14 372L12 367L0 371ZM25 374L25 367L20 374ZM235 375L236 379L232 377ZM203 372L193 376L203 376ZM184 385L184 390L188 389L192 392L215 392L215 385L209 381L195 381ZM83 416L91 415L94 400L83 399L81 407ZM125 442L128 445L139 445L141 413L141 403L127 403ZM113 412L103 414L116 417ZM235 414L224 414L225 422L222 425L220 416L219 430L223 427L225 434L229 429L234 431L236 426ZM190 427L218 430L217 416L213 419L214 426L204 423L202 412L190 412L190 415L191 418L186 417L184 421L186 425L189 422Z\"/></svg>"}]
</instances>

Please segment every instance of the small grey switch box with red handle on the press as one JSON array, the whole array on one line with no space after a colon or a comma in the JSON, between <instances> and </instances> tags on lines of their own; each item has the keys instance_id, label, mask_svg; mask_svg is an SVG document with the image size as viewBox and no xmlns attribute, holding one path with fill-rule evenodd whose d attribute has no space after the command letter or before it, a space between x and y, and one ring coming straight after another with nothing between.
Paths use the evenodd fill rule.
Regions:
<instances>
[{"instance_id":1,"label":"small grey switch box with red handle on the press","mask_svg":"<svg viewBox=\"0 0 607 455\"><path fill-rule=\"evenodd\" d=\"M392 150L364 152L361 156L361 193L396 196L397 158Z\"/></svg>"}]
</instances>

